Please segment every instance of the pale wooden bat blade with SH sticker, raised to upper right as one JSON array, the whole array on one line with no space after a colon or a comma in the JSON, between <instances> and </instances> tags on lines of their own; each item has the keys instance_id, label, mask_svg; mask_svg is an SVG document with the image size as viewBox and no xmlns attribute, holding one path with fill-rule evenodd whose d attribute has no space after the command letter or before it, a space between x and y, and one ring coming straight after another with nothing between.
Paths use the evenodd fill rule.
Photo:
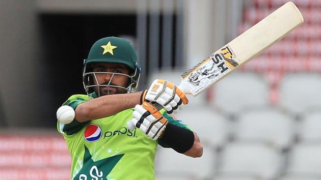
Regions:
<instances>
[{"instance_id":1,"label":"pale wooden bat blade with SH sticker, raised to upper right","mask_svg":"<svg viewBox=\"0 0 321 180\"><path fill-rule=\"evenodd\" d=\"M197 96L255 56L281 40L303 23L300 10L287 2L246 32L182 74L179 87Z\"/></svg>"}]
</instances>

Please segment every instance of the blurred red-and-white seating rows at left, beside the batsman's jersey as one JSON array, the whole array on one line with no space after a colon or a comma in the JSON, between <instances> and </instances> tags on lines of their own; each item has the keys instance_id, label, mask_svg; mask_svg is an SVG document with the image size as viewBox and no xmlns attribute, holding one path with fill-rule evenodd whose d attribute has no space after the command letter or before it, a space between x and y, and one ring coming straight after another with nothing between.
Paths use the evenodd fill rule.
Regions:
<instances>
[{"instance_id":1,"label":"blurred red-and-white seating rows at left, beside the batsman's jersey","mask_svg":"<svg viewBox=\"0 0 321 180\"><path fill-rule=\"evenodd\" d=\"M66 142L49 133L0 136L0 179L68 179L71 158Z\"/></svg>"}]
</instances>

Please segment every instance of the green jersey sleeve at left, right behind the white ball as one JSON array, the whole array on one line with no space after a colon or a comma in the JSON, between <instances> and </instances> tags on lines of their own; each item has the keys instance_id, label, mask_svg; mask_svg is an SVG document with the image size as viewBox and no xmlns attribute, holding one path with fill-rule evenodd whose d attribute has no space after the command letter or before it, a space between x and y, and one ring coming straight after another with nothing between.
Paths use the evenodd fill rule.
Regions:
<instances>
[{"instance_id":1,"label":"green jersey sleeve at left, right behind the white ball","mask_svg":"<svg viewBox=\"0 0 321 180\"><path fill-rule=\"evenodd\" d=\"M75 109L79 104L89 101L90 98L86 95L73 95L63 104L68 105ZM63 124L59 121L57 122L57 129L63 135L72 135L79 130L81 130L84 126L86 126L88 122L79 123L75 119L69 124Z\"/></svg>"}]
</instances>

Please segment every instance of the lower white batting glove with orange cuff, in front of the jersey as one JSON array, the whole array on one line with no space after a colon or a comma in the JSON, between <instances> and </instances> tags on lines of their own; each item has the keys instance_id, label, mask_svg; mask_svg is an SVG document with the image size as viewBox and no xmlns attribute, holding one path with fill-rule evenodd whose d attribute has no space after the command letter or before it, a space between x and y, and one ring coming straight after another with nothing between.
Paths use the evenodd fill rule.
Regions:
<instances>
[{"instance_id":1,"label":"lower white batting glove with orange cuff, in front of the jersey","mask_svg":"<svg viewBox=\"0 0 321 180\"><path fill-rule=\"evenodd\" d=\"M168 124L167 119L161 112L148 102L144 102L142 105L136 105L132 116L133 118L127 122L129 129L133 130L137 127L153 140L162 137Z\"/></svg>"}]
</instances>

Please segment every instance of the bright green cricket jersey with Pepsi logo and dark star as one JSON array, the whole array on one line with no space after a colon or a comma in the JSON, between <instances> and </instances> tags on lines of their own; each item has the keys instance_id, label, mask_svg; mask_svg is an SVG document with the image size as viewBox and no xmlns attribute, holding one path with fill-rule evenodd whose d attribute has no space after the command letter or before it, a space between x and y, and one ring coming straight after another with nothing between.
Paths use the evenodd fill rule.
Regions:
<instances>
[{"instance_id":1,"label":"bright green cricket jersey with Pepsi logo and dark star","mask_svg":"<svg viewBox=\"0 0 321 180\"><path fill-rule=\"evenodd\" d=\"M89 101L87 95L73 95L64 105L76 108ZM71 179L93 180L151 180L154 179L154 157L157 144L167 147L161 140L154 141L139 129L130 131L126 123L133 109L85 123L75 120L68 125L57 123L72 158ZM168 122L190 129L182 121L168 116Z\"/></svg>"}]
</instances>

